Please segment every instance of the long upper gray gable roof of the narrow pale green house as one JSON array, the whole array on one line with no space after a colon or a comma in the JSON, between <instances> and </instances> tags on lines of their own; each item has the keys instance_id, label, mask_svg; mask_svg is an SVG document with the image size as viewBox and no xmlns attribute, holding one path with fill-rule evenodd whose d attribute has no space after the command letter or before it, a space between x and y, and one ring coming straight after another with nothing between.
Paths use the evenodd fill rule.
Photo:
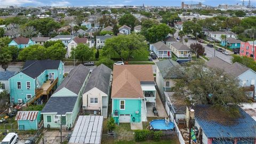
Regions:
<instances>
[{"instance_id":1,"label":"long upper gray gable roof of the narrow pale green house","mask_svg":"<svg viewBox=\"0 0 256 144\"><path fill-rule=\"evenodd\" d=\"M63 80L63 82L59 85L59 87L55 90L53 95L60 91L63 87L68 89L75 94L78 94L81 90L85 79L89 75L90 69L86 68L82 64L76 66L74 69L70 71L68 76Z\"/></svg>"}]
</instances>

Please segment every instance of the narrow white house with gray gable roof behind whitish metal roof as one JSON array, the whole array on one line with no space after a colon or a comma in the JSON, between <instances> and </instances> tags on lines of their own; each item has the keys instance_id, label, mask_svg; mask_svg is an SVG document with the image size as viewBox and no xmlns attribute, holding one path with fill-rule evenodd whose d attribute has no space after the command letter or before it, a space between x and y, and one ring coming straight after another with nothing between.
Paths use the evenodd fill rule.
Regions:
<instances>
[{"instance_id":1,"label":"narrow white house with gray gable roof behind whitish metal roof","mask_svg":"<svg viewBox=\"0 0 256 144\"><path fill-rule=\"evenodd\" d=\"M103 64L92 70L83 92L83 113L107 117L111 78L111 69Z\"/></svg>"}]
</instances>

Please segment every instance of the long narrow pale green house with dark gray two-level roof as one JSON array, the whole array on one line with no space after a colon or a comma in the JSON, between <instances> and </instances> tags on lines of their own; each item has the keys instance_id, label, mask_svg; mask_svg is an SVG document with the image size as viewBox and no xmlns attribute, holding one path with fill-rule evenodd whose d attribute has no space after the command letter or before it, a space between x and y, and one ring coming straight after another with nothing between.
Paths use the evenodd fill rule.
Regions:
<instances>
[{"instance_id":1,"label":"long narrow pale green house with dark gray two-level roof","mask_svg":"<svg viewBox=\"0 0 256 144\"><path fill-rule=\"evenodd\" d=\"M41 111L44 127L74 126L82 108L82 94L89 76L90 69L83 65L76 66L70 71Z\"/></svg>"}]
</instances>

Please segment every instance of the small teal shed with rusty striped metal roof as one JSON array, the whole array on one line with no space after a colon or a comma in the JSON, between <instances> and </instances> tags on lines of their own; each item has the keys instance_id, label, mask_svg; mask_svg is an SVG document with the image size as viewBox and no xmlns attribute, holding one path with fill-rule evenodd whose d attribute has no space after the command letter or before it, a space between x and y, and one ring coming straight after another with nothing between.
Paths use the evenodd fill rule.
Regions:
<instances>
[{"instance_id":1,"label":"small teal shed with rusty striped metal roof","mask_svg":"<svg viewBox=\"0 0 256 144\"><path fill-rule=\"evenodd\" d=\"M18 130L37 130L43 124L40 111L18 111L15 121L18 121Z\"/></svg>"}]
</instances>

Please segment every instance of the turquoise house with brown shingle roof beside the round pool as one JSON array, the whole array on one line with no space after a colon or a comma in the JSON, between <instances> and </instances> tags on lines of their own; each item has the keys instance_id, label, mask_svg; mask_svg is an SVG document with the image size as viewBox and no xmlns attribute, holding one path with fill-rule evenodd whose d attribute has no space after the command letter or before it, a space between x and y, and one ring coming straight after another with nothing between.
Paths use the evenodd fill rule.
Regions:
<instances>
[{"instance_id":1,"label":"turquoise house with brown shingle roof beside the round pool","mask_svg":"<svg viewBox=\"0 0 256 144\"><path fill-rule=\"evenodd\" d=\"M146 106L156 99L152 66L114 65L111 99L116 123L146 122Z\"/></svg>"}]
</instances>

